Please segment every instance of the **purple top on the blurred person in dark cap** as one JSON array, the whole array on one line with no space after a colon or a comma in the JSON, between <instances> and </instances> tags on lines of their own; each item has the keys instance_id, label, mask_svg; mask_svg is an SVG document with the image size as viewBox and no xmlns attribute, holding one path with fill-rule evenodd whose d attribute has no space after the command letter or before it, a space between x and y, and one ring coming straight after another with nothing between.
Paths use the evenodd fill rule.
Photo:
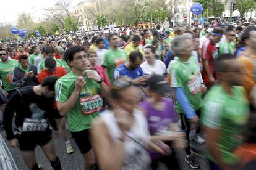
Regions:
<instances>
[{"instance_id":1,"label":"purple top on the blurred person in dark cap","mask_svg":"<svg viewBox=\"0 0 256 170\"><path fill-rule=\"evenodd\" d=\"M173 100L170 98L162 98L164 103L163 110L156 110L151 106L151 103L144 100L139 105L145 110L145 115L148 121L149 131L151 135L156 135L157 133L163 133L167 131L170 123L177 121L176 113L174 112ZM150 153L151 158L161 158L164 155L158 153Z\"/></svg>"}]
</instances>

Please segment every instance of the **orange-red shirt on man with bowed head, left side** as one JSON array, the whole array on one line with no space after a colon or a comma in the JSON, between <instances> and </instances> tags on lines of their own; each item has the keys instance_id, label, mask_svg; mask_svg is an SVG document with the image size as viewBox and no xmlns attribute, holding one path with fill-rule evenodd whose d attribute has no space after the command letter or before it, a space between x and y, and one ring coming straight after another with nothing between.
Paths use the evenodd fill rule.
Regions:
<instances>
[{"instance_id":1,"label":"orange-red shirt on man with bowed head, left side","mask_svg":"<svg viewBox=\"0 0 256 170\"><path fill-rule=\"evenodd\" d=\"M37 78L38 78L39 83L41 84L43 79L45 79L48 76L58 76L61 78L62 76L66 75L66 74L67 74L67 72L64 68L57 66L56 69L52 73L50 73L47 69L42 70L37 75Z\"/></svg>"}]
</instances>

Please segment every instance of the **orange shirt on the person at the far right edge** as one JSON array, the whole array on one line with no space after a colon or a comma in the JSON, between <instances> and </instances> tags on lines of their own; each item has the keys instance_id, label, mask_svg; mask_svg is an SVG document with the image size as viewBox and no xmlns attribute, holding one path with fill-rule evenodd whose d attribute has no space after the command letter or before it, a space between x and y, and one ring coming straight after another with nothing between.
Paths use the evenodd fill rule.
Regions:
<instances>
[{"instance_id":1,"label":"orange shirt on the person at the far right edge","mask_svg":"<svg viewBox=\"0 0 256 170\"><path fill-rule=\"evenodd\" d=\"M256 62L256 56L250 56ZM241 63L242 71L244 71L245 81L243 83L243 87L247 93L247 99L250 101L250 90L256 84L254 81L254 63L250 59L248 59L246 52L243 52L238 57L238 62Z\"/></svg>"}]
</instances>

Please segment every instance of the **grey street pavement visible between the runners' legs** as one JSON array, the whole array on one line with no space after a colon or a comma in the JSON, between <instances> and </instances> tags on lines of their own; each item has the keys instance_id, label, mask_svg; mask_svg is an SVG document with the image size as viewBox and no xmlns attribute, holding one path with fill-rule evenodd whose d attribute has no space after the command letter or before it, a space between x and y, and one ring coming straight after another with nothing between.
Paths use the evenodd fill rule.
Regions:
<instances>
[{"instance_id":1,"label":"grey street pavement visible between the runners' legs","mask_svg":"<svg viewBox=\"0 0 256 170\"><path fill-rule=\"evenodd\" d=\"M5 134L4 131L0 132L0 134L2 135L2 137L5 138L6 134ZM74 140L72 140L72 138L70 138L70 142L71 142L75 152L72 153L71 155L67 155L64 140L54 139L54 147L55 147L55 150L56 150L56 154L59 156L59 159L61 160L62 169L66 169L66 170L67 169L69 169L69 170L83 169L83 157L79 152L79 148L77 148L77 146L75 145L75 142L74 142ZM203 148L203 145L197 145L197 146L199 148ZM12 153L12 156L14 158L15 163L17 164L17 168L20 169L20 170L27 170L27 168L25 166L25 163L23 162L22 157L20 155L19 149L9 147L9 150ZM36 147L35 151L36 151L36 161L38 162L38 164L42 164L45 170L52 169L51 164L49 163L49 161L47 160L47 158L43 154L43 151L41 150L41 148ZM177 155L177 158L179 160L179 164L180 164L182 169L184 169L184 170L192 169L184 161L184 158L185 158L184 150L181 150L181 149L177 150L176 155ZM209 169L207 160L205 158L200 158L198 156L195 156L195 157L197 158L197 160L201 164L200 169L202 169L202 170L208 170ZM164 166L161 165L158 169L164 170L166 168L164 168Z\"/></svg>"}]
</instances>

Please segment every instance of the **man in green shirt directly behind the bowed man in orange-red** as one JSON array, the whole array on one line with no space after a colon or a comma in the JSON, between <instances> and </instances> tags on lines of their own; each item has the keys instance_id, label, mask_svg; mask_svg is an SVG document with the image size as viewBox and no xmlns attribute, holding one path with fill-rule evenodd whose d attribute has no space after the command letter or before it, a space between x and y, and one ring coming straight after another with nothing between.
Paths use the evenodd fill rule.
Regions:
<instances>
[{"instance_id":1,"label":"man in green shirt directly behind the bowed man in orange-red","mask_svg":"<svg viewBox=\"0 0 256 170\"><path fill-rule=\"evenodd\" d=\"M51 46L45 47L45 55L46 55L45 58L53 57L55 59L55 49ZM56 60L57 66L64 68L64 65L62 64L60 59L55 59L55 60ZM38 64L37 73L40 73L44 69L45 69L45 59Z\"/></svg>"}]
</instances>

